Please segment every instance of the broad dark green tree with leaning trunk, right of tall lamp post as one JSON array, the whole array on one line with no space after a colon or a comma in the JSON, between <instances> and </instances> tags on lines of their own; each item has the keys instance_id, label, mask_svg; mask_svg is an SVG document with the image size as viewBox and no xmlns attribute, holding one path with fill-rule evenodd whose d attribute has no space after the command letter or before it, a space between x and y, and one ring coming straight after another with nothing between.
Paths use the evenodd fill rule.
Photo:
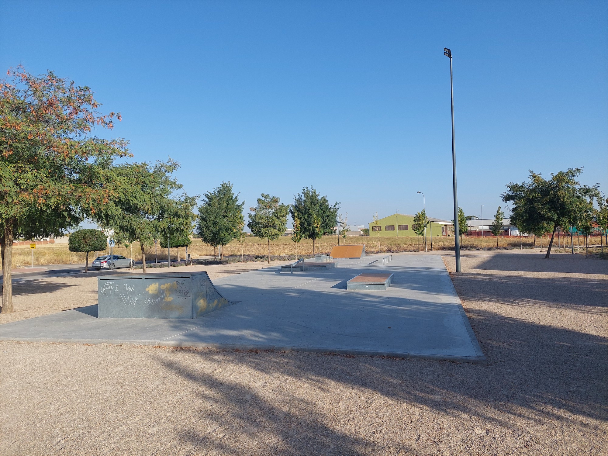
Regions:
<instances>
[{"instance_id":1,"label":"broad dark green tree with leaning trunk, right of tall lamp post","mask_svg":"<svg viewBox=\"0 0 608 456\"><path fill-rule=\"evenodd\" d=\"M541 173L530 171L530 179L522 184L511 182L502 194L505 202L513 202L511 220L527 232L536 233L548 228L551 240L545 258L549 258L555 231L558 227L578 226L586 213L593 211L593 198L599 196L597 185L579 187L576 178L582 168L551 173L551 179L543 179Z\"/></svg>"}]
</instances>

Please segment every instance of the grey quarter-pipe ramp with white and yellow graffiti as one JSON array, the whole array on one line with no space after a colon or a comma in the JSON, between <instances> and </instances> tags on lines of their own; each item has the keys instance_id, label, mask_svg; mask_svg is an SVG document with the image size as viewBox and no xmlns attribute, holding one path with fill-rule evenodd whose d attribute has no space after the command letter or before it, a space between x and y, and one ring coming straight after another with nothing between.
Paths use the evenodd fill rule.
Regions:
<instances>
[{"instance_id":1,"label":"grey quarter-pipe ramp with white and yellow graffiti","mask_svg":"<svg viewBox=\"0 0 608 456\"><path fill-rule=\"evenodd\" d=\"M97 278L99 318L193 319L233 302L207 272L116 274Z\"/></svg>"}]
</instances>

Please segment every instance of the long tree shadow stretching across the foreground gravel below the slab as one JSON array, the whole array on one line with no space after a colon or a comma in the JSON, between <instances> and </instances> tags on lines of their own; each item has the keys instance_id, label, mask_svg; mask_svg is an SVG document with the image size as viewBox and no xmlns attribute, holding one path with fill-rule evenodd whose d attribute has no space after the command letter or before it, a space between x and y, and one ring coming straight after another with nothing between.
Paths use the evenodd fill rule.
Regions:
<instances>
[{"instance_id":1,"label":"long tree shadow stretching across the foreground gravel below the slab","mask_svg":"<svg viewBox=\"0 0 608 456\"><path fill-rule=\"evenodd\" d=\"M374 443L368 432L371 428L365 429L363 422L361 435L353 434L352 429L341 432L316 401L281 391L269 400L261 394L259 385L201 375L196 366L203 362L218 367L226 363L244 365L271 378L297 379L319 393L340 384L361 395L377 393L392 404L428 407L444 420L469 415L513 432L523 432L516 420L542 425L568 420L572 415L606 419L606 337L491 311L473 311L471 317L480 333L488 365L257 350L192 350L187 362L176 362L170 353L157 357L157 362L196 384L201 400L211 404L198 411L201 419L219 423L221 416L229 412L237 421L230 443L199 429L176 429L182 438L206 451L235 453L238 448L231 444L255 440L254 436L260 433L269 436L262 452L271 454L356 455L386 452L386 448ZM355 410L345 410L345 414L357 416ZM390 416L384 419L390 420ZM344 421L340 417L336 420ZM587 425L593 427L589 422ZM391 444L407 451L415 448L412 442Z\"/></svg>"}]
</instances>

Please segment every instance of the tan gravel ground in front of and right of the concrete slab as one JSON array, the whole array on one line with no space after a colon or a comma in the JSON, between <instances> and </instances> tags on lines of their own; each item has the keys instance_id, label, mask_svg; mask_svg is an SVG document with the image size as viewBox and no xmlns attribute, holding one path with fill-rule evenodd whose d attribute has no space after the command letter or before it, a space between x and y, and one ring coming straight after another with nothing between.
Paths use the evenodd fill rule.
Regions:
<instances>
[{"instance_id":1,"label":"tan gravel ground in front of and right of the concrete slab","mask_svg":"<svg viewBox=\"0 0 608 456\"><path fill-rule=\"evenodd\" d=\"M462 264L488 365L0 342L0 454L608 454L608 262Z\"/></svg>"}]
</instances>

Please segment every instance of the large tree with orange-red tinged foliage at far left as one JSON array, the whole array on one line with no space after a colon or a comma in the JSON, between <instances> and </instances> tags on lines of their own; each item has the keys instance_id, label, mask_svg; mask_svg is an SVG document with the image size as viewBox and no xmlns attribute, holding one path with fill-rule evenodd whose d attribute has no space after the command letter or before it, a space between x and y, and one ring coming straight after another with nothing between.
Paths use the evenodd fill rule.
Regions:
<instances>
[{"instance_id":1,"label":"large tree with orange-red tinged foliage at far left","mask_svg":"<svg viewBox=\"0 0 608 456\"><path fill-rule=\"evenodd\" d=\"M120 114L100 114L90 88L10 69L0 81L0 246L2 312L13 311L12 249L15 237L63 235L93 218L124 184L112 158L128 156L126 141L89 136L111 129Z\"/></svg>"}]
</instances>

